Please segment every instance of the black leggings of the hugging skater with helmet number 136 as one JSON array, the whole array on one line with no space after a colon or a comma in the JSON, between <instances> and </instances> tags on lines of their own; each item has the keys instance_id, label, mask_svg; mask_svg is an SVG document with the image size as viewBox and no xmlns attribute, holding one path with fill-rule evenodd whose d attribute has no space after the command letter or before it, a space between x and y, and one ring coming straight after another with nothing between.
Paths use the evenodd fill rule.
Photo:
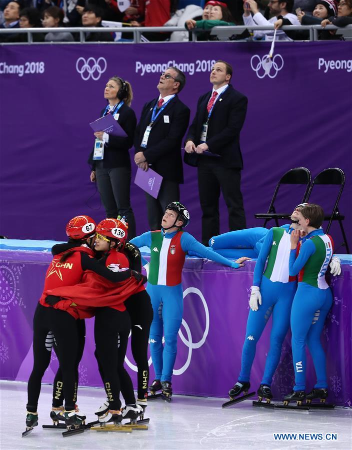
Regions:
<instances>
[{"instance_id":1,"label":"black leggings of the hugging skater with helmet number 136","mask_svg":"<svg viewBox=\"0 0 352 450\"><path fill-rule=\"evenodd\" d=\"M120 379L129 384L128 404L135 403L133 385L123 366L131 322L127 311L97 308L94 321L95 357L110 409L120 409ZM129 379L129 381L128 381ZM126 401L127 403L127 401Z\"/></svg>"}]
</instances>

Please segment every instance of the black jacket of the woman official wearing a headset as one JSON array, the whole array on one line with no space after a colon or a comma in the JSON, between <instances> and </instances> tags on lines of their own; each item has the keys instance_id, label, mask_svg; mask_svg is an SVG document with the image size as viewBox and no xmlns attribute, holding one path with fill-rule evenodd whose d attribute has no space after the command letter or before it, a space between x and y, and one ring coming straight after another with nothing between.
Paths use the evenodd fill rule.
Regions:
<instances>
[{"instance_id":1,"label":"black jacket of the woman official wearing a headset","mask_svg":"<svg viewBox=\"0 0 352 450\"><path fill-rule=\"evenodd\" d=\"M100 117L102 117L105 108L101 110ZM133 145L133 136L137 118L134 111L125 103L118 110L118 124L122 130L127 134L127 137L118 137L109 135L109 142L104 145L104 159L102 160L102 167L104 169L112 169L114 167L131 167L128 149ZM93 161L93 151L90 153L88 164L94 170L95 161Z\"/></svg>"}]
</instances>

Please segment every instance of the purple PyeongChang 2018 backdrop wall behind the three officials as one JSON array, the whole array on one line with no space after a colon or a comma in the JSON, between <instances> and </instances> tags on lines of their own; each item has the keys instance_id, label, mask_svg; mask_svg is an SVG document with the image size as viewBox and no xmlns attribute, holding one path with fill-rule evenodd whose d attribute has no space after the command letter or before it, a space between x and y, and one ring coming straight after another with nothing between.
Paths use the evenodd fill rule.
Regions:
<instances>
[{"instance_id":1,"label":"purple PyeongChang 2018 backdrop wall behind the three officials","mask_svg":"<svg viewBox=\"0 0 352 450\"><path fill-rule=\"evenodd\" d=\"M265 73L261 61L270 45L0 47L0 234L62 240L69 218L77 214L103 218L86 161L94 142L89 123L105 105L103 89L109 77L119 75L131 82L132 108L139 118L145 102L158 95L159 73L169 65L178 65L187 79L179 97L191 108L192 119L199 95L210 90L211 64L222 59L233 65L233 86L248 97L241 133L247 226L262 226L263 221L253 215L267 211L277 180L287 170L305 166L314 177L327 167L340 167L346 175L340 212L345 215L352 246L352 42L278 42L274 64ZM185 166L184 172L180 199L191 214L187 231L199 239L196 170ZM134 175L133 164L132 180ZM331 206L336 190L319 190L311 201ZM276 210L291 212L302 195L303 190L283 191ZM133 183L131 202L140 234L148 229L145 199ZM228 231L222 199L220 207L222 233ZM14 220L18 211L21 219ZM336 224L331 234L336 253L344 253Z\"/></svg>"}]
</instances>

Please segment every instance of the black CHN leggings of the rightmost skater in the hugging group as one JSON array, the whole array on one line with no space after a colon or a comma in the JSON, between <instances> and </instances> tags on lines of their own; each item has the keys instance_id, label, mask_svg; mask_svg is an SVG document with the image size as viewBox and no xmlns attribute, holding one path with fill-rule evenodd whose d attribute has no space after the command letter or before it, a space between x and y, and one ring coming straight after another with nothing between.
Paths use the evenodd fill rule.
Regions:
<instances>
[{"instance_id":1,"label":"black CHN leggings of the rightmost skater in the hugging group","mask_svg":"<svg viewBox=\"0 0 352 450\"><path fill-rule=\"evenodd\" d=\"M137 397L142 399L148 392L148 339L153 309L149 294L145 290L131 295L124 305L131 319L131 350L137 365ZM124 392L124 385L121 381L121 393L123 398L126 398ZM128 404L127 401L126 404Z\"/></svg>"}]
</instances>

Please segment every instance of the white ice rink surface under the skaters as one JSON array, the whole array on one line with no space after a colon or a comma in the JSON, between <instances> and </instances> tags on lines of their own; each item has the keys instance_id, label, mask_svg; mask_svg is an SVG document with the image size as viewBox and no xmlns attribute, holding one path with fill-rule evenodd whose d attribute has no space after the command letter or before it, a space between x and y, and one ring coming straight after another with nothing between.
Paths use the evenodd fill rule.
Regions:
<instances>
[{"instance_id":1,"label":"white ice rink surface under the skaters","mask_svg":"<svg viewBox=\"0 0 352 450\"><path fill-rule=\"evenodd\" d=\"M274 448L352 448L352 409L271 411L255 408L251 401L222 409L226 399L175 395L171 403L161 399L148 402L145 417L148 430L132 433L85 431L63 438L59 430L42 429L51 424L52 386L42 385L39 398L39 425L22 438L25 429L26 383L0 381L0 448L31 449L274 449ZM104 399L104 391L79 388L80 412L87 421ZM337 440L275 440L273 433L336 433Z\"/></svg>"}]
</instances>

